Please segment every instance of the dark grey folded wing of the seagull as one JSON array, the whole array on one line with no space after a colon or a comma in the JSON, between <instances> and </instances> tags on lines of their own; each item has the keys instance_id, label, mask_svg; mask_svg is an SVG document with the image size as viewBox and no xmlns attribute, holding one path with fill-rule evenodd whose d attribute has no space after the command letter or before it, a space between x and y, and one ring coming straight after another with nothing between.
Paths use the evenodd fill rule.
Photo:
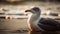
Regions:
<instances>
[{"instance_id":1,"label":"dark grey folded wing of the seagull","mask_svg":"<svg viewBox=\"0 0 60 34\"><path fill-rule=\"evenodd\" d=\"M60 30L60 23L50 18L41 18L38 26L45 31L56 31Z\"/></svg>"}]
</instances>

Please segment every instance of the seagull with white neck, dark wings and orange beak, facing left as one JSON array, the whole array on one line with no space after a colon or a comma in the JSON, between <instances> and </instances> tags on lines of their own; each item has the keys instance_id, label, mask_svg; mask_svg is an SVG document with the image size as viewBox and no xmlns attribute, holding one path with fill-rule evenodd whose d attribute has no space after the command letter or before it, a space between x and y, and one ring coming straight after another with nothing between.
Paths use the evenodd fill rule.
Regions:
<instances>
[{"instance_id":1,"label":"seagull with white neck, dark wings and orange beak, facing left","mask_svg":"<svg viewBox=\"0 0 60 34\"><path fill-rule=\"evenodd\" d=\"M28 17L28 27L30 31L60 31L60 23L51 18L41 18L41 10L39 7L33 7L25 10L30 12Z\"/></svg>"}]
</instances>

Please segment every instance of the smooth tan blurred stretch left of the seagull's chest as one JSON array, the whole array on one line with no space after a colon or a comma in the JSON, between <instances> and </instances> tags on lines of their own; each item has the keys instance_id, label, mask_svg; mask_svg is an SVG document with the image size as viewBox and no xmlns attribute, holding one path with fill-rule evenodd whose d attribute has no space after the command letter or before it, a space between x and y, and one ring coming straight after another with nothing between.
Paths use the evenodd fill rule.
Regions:
<instances>
[{"instance_id":1,"label":"smooth tan blurred stretch left of the seagull's chest","mask_svg":"<svg viewBox=\"0 0 60 34\"><path fill-rule=\"evenodd\" d=\"M0 19L0 29L22 30L27 29L27 19Z\"/></svg>"}]
</instances>

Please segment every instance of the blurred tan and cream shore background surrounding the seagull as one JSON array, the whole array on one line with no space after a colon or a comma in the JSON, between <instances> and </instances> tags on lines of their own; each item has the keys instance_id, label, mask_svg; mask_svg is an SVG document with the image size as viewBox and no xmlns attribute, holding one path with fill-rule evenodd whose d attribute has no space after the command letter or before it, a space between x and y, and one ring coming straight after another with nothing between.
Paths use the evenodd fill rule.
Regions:
<instances>
[{"instance_id":1,"label":"blurred tan and cream shore background surrounding the seagull","mask_svg":"<svg viewBox=\"0 0 60 34\"><path fill-rule=\"evenodd\" d=\"M60 21L60 0L0 0L0 30L28 30L26 9L41 9L41 17Z\"/></svg>"}]
</instances>

